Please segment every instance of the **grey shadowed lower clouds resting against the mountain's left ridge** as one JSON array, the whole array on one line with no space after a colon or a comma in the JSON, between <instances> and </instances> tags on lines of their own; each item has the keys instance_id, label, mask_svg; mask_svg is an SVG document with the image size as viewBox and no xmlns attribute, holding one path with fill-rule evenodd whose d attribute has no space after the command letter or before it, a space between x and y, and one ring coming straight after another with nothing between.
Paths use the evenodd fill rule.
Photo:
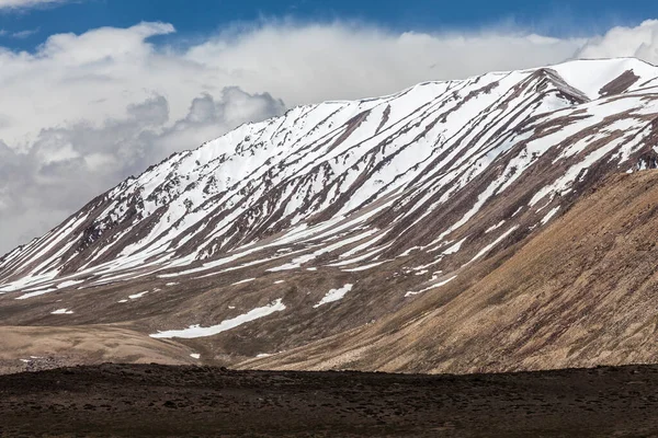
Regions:
<instances>
[{"instance_id":1,"label":"grey shadowed lower clouds resting against the mountain's left ridge","mask_svg":"<svg viewBox=\"0 0 658 438\"><path fill-rule=\"evenodd\" d=\"M78 122L43 129L26 151L0 142L0 246L9 250L43 233L172 152L283 111L283 103L269 94L227 88L218 99L195 99L185 117L166 126L169 103L154 95L100 126Z\"/></svg>"}]
</instances>

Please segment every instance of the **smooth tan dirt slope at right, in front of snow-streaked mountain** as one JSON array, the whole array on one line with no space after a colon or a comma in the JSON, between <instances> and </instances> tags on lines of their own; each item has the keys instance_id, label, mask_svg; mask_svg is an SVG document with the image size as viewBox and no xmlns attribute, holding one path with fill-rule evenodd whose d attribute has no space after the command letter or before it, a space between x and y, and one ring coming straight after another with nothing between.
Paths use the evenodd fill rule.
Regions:
<instances>
[{"instance_id":1,"label":"smooth tan dirt slope at right, in front of snow-streaked mountain","mask_svg":"<svg viewBox=\"0 0 658 438\"><path fill-rule=\"evenodd\" d=\"M658 172L613 175L466 279L375 324L242 366L462 373L657 362L657 212Z\"/></svg>"}]
</instances>

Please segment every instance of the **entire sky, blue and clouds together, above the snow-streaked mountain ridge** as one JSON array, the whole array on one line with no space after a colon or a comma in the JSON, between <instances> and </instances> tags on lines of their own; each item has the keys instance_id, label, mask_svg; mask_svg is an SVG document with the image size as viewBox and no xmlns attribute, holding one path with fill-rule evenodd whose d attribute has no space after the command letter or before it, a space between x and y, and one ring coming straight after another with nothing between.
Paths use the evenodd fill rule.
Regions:
<instances>
[{"instance_id":1,"label":"entire sky, blue and clouds together, above the snow-streaked mountain ridge","mask_svg":"<svg viewBox=\"0 0 658 438\"><path fill-rule=\"evenodd\" d=\"M658 64L655 19L644 0L0 0L0 254L295 105L576 58Z\"/></svg>"}]
</instances>

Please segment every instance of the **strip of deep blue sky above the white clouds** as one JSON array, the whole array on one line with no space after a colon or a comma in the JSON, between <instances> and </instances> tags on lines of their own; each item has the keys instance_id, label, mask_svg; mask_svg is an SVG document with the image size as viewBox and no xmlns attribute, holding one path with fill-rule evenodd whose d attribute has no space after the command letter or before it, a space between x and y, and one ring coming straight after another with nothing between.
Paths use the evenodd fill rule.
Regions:
<instances>
[{"instance_id":1,"label":"strip of deep blue sky above the white clouds","mask_svg":"<svg viewBox=\"0 0 658 438\"><path fill-rule=\"evenodd\" d=\"M359 21L393 31L513 26L543 35L572 36L603 33L615 25L636 25L654 16L658 16L658 2L651 0L79 0L1 12L0 30L4 35L0 36L0 45L31 50L52 34L127 27L140 21L171 23L178 30L177 39L194 41L231 23L281 18L299 22Z\"/></svg>"}]
</instances>

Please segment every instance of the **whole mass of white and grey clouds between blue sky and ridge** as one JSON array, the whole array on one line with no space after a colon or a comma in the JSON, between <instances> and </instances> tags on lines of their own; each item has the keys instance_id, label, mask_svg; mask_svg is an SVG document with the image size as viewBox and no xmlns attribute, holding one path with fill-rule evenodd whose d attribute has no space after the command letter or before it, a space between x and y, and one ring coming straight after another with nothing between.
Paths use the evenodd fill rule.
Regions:
<instances>
[{"instance_id":1,"label":"whole mass of white and grey clouds between blue sky and ridge","mask_svg":"<svg viewBox=\"0 0 658 438\"><path fill-rule=\"evenodd\" d=\"M548 38L510 28L395 33L282 21L156 46L149 38L174 27L139 23L52 35L33 53L0 47L0 253L126 176L241 123L575 56L658 62L656 26Z\"/></svg>"}]
</instances>

